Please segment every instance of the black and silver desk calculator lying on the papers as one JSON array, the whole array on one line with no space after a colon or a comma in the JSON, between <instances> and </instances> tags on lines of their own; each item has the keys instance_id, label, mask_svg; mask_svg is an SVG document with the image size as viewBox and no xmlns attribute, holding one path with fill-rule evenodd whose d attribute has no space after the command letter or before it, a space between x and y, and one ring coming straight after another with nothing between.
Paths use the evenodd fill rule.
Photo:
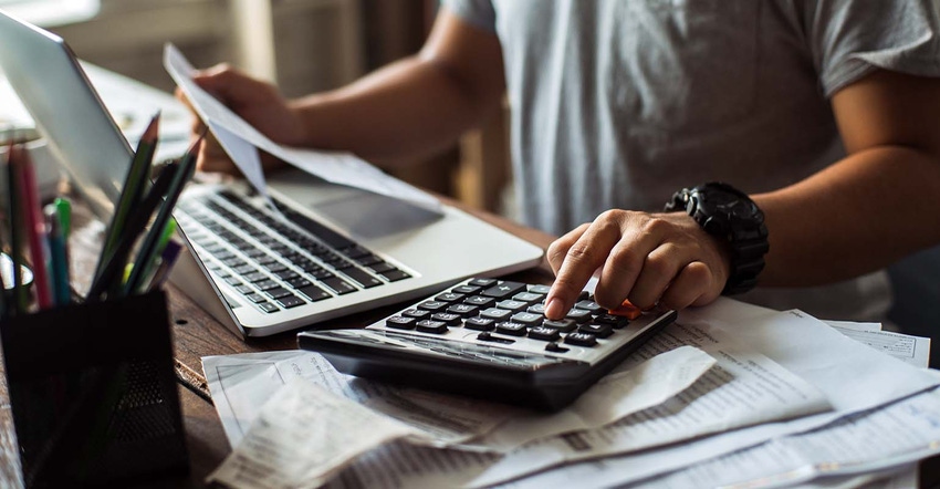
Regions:
<instances>
[{"instance_id":1,"label":"black and silver desk calculator lying on the papers","mask_svg":"<svg viewBox=\"0 0 940 489\"><path fill-rule=\"evenodd\" d=\"M582 292L560 321L549 285L469 279L365 329L304 331L303 350L345 374L555 412L676 320Z\"/></svg>"}]
</instances>

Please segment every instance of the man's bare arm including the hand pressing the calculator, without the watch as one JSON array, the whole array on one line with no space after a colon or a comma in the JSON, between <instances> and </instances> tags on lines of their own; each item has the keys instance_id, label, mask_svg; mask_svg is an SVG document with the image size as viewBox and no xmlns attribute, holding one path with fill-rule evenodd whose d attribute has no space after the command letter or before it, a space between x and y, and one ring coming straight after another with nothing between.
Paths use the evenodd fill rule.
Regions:
<instances>
[{"instance_id":1,"label":"man's bare arm including the hand pressing the calculator, without the watch","mask_svg":"<svg viewBox=\"0 0 940 489\"><path fill-rule=\"evenodd\" d=\"M766 218L762 285L811 285L877 270L940 242L940 80L876 72L836 93L848 156L786 188L751 196ZM596 299L682 309L713 301L727 250L683 212L612 210L552 245L557 318L598 268ZM555 302L555 304L552 304Z\"/></svg>"}]
</instances>

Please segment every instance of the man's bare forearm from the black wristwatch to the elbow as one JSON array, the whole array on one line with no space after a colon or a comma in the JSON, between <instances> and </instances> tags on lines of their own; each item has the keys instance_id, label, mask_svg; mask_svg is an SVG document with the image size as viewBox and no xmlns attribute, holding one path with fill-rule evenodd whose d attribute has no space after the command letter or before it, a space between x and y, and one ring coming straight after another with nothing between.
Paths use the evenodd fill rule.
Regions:
<instances>
[{"instance_id":1,"label":"man's bare forearm from the black wristwatch to the elbow","mask_svg":"<svg viewBox=\"0 0 940 489\"><path fill-rule=\"evenodd\" d=\"M753 196L771 249L763 285L812 285L884 268L940 242L940 160L886 146L784 189Z\"/></svg>"}]
</instances>

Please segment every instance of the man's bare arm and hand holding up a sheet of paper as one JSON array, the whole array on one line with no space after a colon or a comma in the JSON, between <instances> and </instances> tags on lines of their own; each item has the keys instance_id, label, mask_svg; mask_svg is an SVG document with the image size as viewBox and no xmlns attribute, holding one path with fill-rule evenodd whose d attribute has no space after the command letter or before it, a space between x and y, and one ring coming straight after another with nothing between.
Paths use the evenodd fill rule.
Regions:
<instances>
[{"instance_id":1,"label":"man's bare arm and hand holding up a sheet of paper","mask_svg":"<svg viewBox=\"0 0 940 489\"><path fill-rule=\"evenodd\" d=\"M345 87L284 101L275 87L222 65L196 82L279 143L394 162L430 154L500 107L499 39L441 9L421 51ZM230 170L212 141L203 170Z\"/></svg>"}]
</instances>

